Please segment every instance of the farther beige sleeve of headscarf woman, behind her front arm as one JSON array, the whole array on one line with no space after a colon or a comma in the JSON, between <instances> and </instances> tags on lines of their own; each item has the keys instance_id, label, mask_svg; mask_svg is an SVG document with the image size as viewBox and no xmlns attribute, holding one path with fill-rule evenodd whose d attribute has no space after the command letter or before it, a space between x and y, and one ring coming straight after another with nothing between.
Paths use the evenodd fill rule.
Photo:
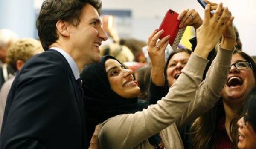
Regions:
<instances>
[{"instance_id":1,"label":"farther beige sleeve of headscarf woman, behind her front arm","mask_svg":"<svg viewBox=\"0 0 256 149\"><path fill-rule=\"evenodd\" d=\"M231 67L233 50L219 47L218 53L210 66L205 80L200 83L195 99L191 100L188 108L177 120L178 127L186 126L200 115L212 109L221 96L221 90L227 82L227 74Z\"/></svg>"}]
</instances>

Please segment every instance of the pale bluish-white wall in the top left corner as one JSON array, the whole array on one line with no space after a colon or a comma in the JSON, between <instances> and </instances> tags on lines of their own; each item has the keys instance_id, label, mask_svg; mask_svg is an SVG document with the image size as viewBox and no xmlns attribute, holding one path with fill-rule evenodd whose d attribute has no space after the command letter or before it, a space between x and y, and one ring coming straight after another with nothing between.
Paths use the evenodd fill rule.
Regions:
<instances>
[{"instance_id":1,"label":"pale bluish-white wall in the top left corner","mask_svg":"<svg viewBox=\"0 0 256 149\"><path fill-rule=\"evenodd\" d=\"M11 29L20 37L34 37L34 0L0 0L0 18L0 29Z\"/></svg>"}]
</instances>

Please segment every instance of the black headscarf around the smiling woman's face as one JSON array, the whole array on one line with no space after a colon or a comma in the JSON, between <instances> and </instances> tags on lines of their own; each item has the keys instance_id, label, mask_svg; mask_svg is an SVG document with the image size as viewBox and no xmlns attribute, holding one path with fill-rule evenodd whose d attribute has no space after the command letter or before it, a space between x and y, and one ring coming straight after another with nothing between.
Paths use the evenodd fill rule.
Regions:
<instances>
[{"instance_id":1,"label":"black headscarf around the smiling woman's face","mask_svg":"<svg viewBox=\"0 0 256 149\"><path fill-rule=\"evenodd\" d=\"M147 102L138 100L137 97L127 99L111 89L105 69L108 59L116 60L110 55L104 56L99 63L86 66L80 75L83 81L84 106L89 117L89 137L93 135L98 123L116 115L142 111L148 106Z\"/></svg>"}]
</instances>

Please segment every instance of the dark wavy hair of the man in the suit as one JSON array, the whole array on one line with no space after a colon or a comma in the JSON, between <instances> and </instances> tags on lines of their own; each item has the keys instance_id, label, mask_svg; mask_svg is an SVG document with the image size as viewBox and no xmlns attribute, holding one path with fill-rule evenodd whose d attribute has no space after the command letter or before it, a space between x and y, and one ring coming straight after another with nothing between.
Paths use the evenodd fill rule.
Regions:
<instances>
[{"instance_id":1,"label":"dark wavy hair of the man in the suit","mask_svg":"<svg viewBox=\"0 0 256 149\"><path fill-rule=\"evenodd\" d=\"M81 19L81 10L87 4L92 5L100 14L101 0L45 0L43 2L36 28L45 51L58 39L57 21L67 21L77 26Z\"/></svg>"}]
</instances>

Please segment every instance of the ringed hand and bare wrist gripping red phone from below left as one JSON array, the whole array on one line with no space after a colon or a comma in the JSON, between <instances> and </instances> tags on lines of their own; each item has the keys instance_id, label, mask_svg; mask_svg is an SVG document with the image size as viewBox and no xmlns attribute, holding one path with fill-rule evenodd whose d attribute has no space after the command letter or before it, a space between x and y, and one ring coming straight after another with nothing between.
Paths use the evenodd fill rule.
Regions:
<instances>
[{"instance_id":1,"label":"ringed hand and bare wrist gripping red phone from below left","mask_svg":"<svg viewBox=\"0 0 256 149\"><path fill-rule=\"evenodd\" d=\"M165 67L165 49L169 43L170 35L163 37L157 42L157 39L163 34L163 30L154 32L148 38L148 55L151 59L151 78L157 86L164 85L164 67Z\"/></svg>"}]
</instances>

